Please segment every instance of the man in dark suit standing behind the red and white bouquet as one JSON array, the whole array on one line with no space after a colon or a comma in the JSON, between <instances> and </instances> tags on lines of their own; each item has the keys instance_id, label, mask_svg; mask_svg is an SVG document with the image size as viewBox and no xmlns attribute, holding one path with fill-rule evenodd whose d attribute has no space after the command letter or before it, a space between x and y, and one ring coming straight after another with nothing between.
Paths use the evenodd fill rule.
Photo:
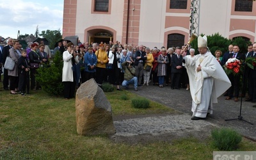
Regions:
<instances>
[{"instance_id":1,"label":"man in dark suit standing behind the red and white bouquet","mask_svg":"<svg viewBox=\"0 0 256 160\"><path fill-rule=\"evenodd\" d=\"M229 58L236 58L237 60L245 60L245 55L241 52L239 52L239 47L238 45L234 45L233 47L233 53L229 54L228 59ZM233 93L235 92L235 99L234 101L237 102L238 101L238 96L239 96L239 81L240 81L240 75L239 76L234 76L233 74L228 75L228 78L231 82L230 88L228 88L228 97L226 98L226 100L230 100L233 97Z\"/></svg>"}]
</instances>

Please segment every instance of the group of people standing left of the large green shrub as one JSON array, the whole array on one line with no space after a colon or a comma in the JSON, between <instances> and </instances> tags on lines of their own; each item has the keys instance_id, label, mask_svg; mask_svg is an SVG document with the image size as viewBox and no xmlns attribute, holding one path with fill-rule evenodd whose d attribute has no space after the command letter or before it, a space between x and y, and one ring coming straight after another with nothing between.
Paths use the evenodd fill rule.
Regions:
<instances>
[{"instance_id":1,"label":"group of people standing left of the large green shrub","mask_svg":"<svg viewBox=\"0 0 256 160\"><path fill-rule=\"evenodd\" d=\"M22 49L19 40L8 38L7 45L0 47L0 61L3 70L3 89L10 90L10 94L26 95L29 90L41 90L36 82L36 69L49 62L50 54L45 52L49 49L44 42L29 43L27 49ZM50 56L51 57L51 56ZM6 69L5 66L11 68ZM29 89L30 88L30 89Z\"/></svg>"}]
</instances>

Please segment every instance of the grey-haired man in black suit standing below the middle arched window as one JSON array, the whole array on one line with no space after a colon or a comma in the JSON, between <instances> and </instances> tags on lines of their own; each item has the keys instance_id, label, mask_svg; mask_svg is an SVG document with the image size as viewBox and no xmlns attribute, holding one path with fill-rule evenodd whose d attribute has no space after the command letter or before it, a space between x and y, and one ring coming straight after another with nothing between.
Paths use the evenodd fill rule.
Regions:
<instances>
[{"instance_id":1,"label":"grey-haired man in black suit standing below the middle arched window","mask_svg":"<svg viewBox=\"0 0 256 160\"><path fill-rule=\"evenodd\" d=\"M180 89L179 81L182 74L182 56L180 55L180 49L176 49L176 54L172 56L172 90L175 88Z\"/></svg>"}]
</instances>

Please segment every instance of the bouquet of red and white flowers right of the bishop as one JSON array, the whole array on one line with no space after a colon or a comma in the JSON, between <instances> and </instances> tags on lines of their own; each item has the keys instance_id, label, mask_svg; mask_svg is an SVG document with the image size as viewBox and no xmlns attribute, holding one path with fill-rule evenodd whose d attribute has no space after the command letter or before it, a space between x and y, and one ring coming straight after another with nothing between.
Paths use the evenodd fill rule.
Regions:
<instances>
[{"instance_id":1,"label":"bouquet of red and white flowers right of the bishop","mask_svg":"<svg viewBox=\"0 0 256 160\"><path fill-rule=\"evenodd\" d=\"M236 58L229 58L224 70L227 75L234 74L234 76L239 76L242 73L243 68L241 67L241 62L239 60Z\"/></svg>"}]
</instances>

